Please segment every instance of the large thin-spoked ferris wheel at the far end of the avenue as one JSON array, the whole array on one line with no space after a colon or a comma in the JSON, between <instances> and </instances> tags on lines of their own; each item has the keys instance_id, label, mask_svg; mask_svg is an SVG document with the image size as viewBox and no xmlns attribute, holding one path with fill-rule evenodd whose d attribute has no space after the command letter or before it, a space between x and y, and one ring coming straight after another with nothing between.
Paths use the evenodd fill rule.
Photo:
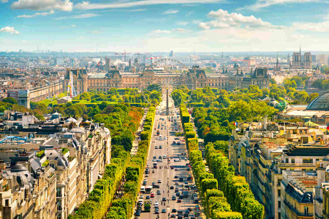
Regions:
<instances>
[{"instance_id":1,"label":"large thin-spoked ferris wheel at the far end of the avenue","mask_svg":"<svg viewBox=\"0 0 329 219\"><path fill-rule=\"evenodd\" d=\"M162 71L157 72L159 68L155 66L163 62L177 63L176 67L180 67L180 70L167 70L164 67ZM184 70L185 65L173 58L155 60L151 66L145 68L142 75L141 92L144 99L149 104L153 104L152 100L159 98L159 95L164 96L168 93L168 98L171 98L175 106L179 106L181 103L187 103L191 98L195 85L193 77L188 71Z\"/></svg>"}]
</instances>

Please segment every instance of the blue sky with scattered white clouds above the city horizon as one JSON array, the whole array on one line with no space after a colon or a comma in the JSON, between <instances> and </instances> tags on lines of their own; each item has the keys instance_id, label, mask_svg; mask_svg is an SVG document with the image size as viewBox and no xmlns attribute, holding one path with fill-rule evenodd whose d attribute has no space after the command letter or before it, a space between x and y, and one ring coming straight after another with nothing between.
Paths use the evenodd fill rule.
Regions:
<instances>
[{"instance_id":1,"label":"blue sky with scattered white clouds above the city horizon","mask_svg":"<svg viewBox=\"0 0 329 219\"><path fill-rule=\"evenodd\" d=\"M328 0L0 0L0 51L329 51Z\"/></svg>"}]
</instances>

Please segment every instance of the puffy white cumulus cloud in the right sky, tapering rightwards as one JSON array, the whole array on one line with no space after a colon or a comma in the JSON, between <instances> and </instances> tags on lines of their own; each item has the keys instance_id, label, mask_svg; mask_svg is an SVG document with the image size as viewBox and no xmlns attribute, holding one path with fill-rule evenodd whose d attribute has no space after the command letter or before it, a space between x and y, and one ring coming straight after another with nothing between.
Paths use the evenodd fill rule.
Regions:
<instances>
[{"instance_id":1,"label":"puffy white cumulus cloud in the right sky, tapering rightwards","mask_svg":"<svg viewBox=\"0 0 329 219\"><path fill-rule=\"evenodd\" d=\"M262 21L261 18L256 18L253 15L243 16L238 13L228 13L222 9L210 11L208 17L215 20L202 22L199 27L205 30L210 28L228 28L232 26L244 26L248 28L267 28L267 29L284 29L284 26L272 25L269 22Z\"/></svg>"}]
</instances>

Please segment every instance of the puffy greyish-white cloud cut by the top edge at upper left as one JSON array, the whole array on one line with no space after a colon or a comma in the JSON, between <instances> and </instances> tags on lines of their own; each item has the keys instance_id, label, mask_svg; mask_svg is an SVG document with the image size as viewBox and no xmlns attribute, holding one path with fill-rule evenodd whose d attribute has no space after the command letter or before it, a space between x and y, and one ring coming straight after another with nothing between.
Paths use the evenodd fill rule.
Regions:
<instances>
[{"instance_id":1,"label":"puffy greyish-white cloud cut by the top edge at upper left","mask_svg":"<svg viewBox=\"0 0 329 219\"><path fill-rule=\"evenodd\" d=\"M18 0L11 5L12 9L30 9L37 11L61 10L72 11L73 3L70 0Z\"/></svg>"}]
</instances>

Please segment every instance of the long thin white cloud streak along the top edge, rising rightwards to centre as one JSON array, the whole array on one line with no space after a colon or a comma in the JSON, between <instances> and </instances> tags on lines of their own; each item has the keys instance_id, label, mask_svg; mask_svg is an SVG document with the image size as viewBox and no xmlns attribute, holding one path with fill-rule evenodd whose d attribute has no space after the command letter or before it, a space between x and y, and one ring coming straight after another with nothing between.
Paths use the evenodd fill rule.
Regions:
<instances>
[{"instance_id":1,"label":"long thin white cloud streak along the top edge, rising rightwards to centre","mask_svg":"<svg viewBox=\"0 0 329 219\"><path fill-rule=\"evenodd\" d=\"M31 0L32 1L32 0ZM92 9L106 9L106 8L130 8L142 5L160 5L160 4L186 4L186 3L216 3L223 2L223 0L142 0L122 3L89 3L81 2L74 5L77 9L92 10Z\"/></svg>"}]
</instances>

